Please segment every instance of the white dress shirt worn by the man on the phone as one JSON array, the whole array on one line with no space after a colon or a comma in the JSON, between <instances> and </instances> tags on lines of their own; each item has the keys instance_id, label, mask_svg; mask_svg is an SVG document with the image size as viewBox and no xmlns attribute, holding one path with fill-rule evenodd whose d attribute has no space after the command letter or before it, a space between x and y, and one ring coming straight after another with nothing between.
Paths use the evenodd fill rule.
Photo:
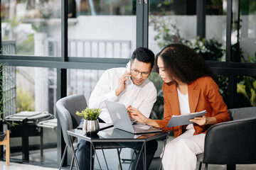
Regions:
<instances>
[{"instance_id":1,"label":"white dress shirt worn by the man on the phone","mask_svg":"<svg viewBox=\"0 0 256 170\"><path fill-rule=\"evenodd\" d=\"M149 118L151 109L156 101L156 88L154 84L146 79L142 85L133 84L132 80L127 81L127 86L119 96L116 96L115 89L118 86L118 79L122 77L126 68L107 69L97 82L95 89L89 99L89 108L100 108L100 118L105 123L112 123L110 114L107 111L105 100L123 103L124 106L131 105Z\"/></svg>"}]
</instances>

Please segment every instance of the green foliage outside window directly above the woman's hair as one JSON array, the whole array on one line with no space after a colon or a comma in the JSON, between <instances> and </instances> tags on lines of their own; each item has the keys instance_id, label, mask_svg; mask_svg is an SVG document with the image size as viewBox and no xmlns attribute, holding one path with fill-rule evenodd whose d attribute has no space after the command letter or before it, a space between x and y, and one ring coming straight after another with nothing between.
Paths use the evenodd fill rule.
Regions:
<instances>
[{"instance_id":1,"label":"green foliage outside window directly above the woman's hair","mask_svg":"<svg viewBox=\"0 0 256 170\"><path fill-rule=\"evenodd\" d=\"M171 19L159 16L150 16L150 26L156 31L154 40L160 49L173 43L182 43L195 50L204 60L223 61L225 60L225 47L223 43L215 39L206 40L199 38L186 40L180 35L177 26L170 24Z\"/></svg>"}]
</instances>

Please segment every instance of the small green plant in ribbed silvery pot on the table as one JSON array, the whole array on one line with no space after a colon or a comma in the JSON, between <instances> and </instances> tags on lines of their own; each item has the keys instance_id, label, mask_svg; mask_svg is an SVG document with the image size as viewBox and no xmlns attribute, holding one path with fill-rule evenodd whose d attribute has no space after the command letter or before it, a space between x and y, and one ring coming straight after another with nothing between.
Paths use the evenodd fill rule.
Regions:
<instances>
[{"instance_id":1,"label":"small green plant in ribbed silvery pot on the table","mask_svg":"<svg viewBox=\"0 0 256 170\"><path fill-rule=\"evenodd\" d=\"M82 130L89 135L95 135L100 130L99 120L97 120L100 113L100 108L85 108L85 110L77 111L75 114L85 119Z\"/></svg>"}]
</instances>

